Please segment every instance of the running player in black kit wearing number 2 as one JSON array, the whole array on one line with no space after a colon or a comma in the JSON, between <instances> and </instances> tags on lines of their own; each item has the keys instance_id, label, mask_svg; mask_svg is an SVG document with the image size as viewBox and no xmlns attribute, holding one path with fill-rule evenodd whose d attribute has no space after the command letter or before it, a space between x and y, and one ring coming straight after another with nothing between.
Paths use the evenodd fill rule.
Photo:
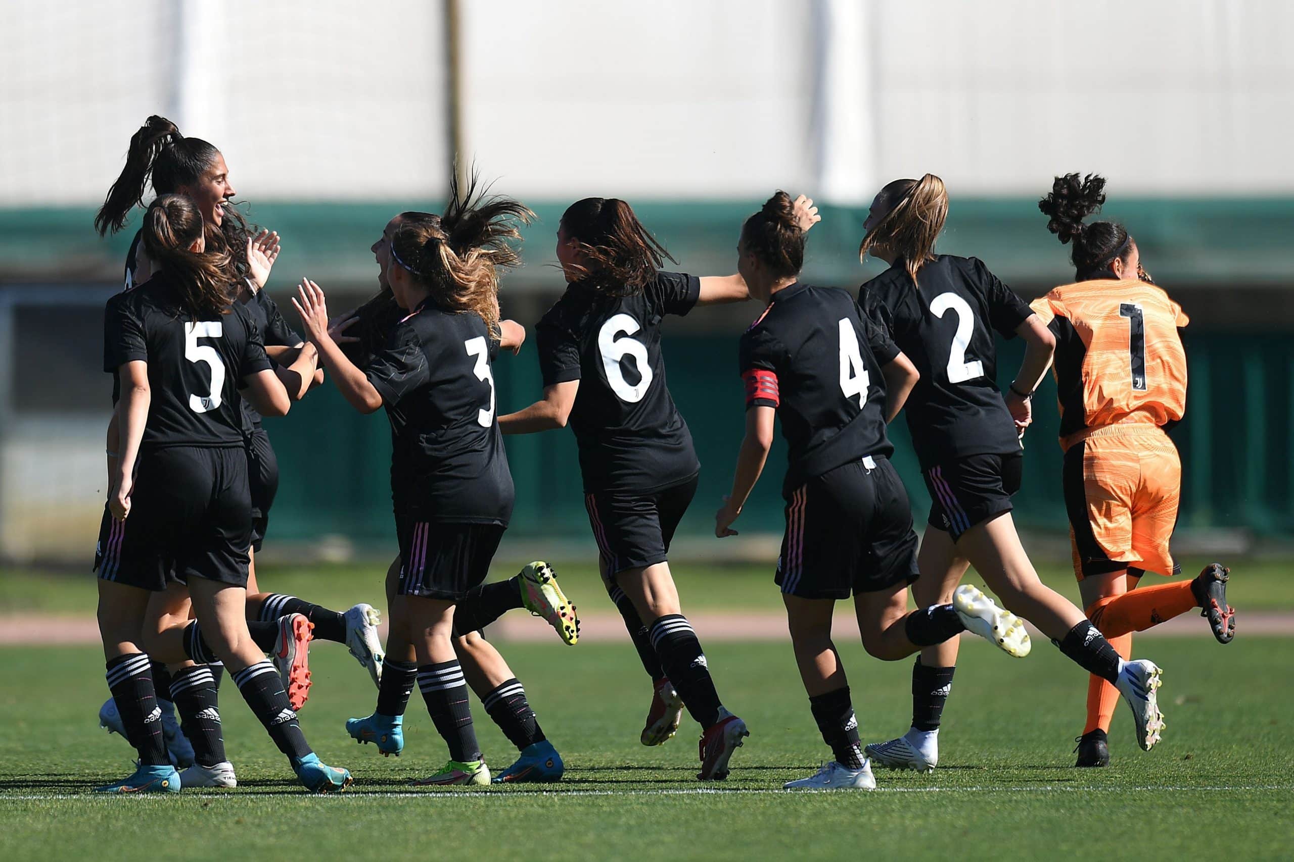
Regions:
<instances>
[{"instance_id":1,"label":"running player in black kit wearing number 2","mask_svg":"<svg viewBox=\"0 0 1294 862\"><path fill-rule=\"evenodd\" d=\"M1082 611L1043 585L1011 518L1011 495L1020 487L1020 433L1030 421L1029 397L1047 371L1055 339L981 261L934 253L947 209L938 177L895 180L872 202L859 248L861 256L890 264L863 284L863 310L921 373L907 401L907 425L934 499L927 540L952 545L1012 613L1042 629L1084 669L1118 686L1136 717L1137 743L1149 750L1163 729L1156 694L1159 668L1148 660L1124 662ZM994 330L1026 341L1005 401L995 383ZM945 571L960 575L964 569L951 565ZM947 697L951 666L938 668L947 682L934 693L929 685L917 686L930 682L932 669L919 659L914 719L937 715ZM938 760L937 746L936 730L914 726L866 751L885 766L929 770Z\"/></svg>"}]
</instances>

